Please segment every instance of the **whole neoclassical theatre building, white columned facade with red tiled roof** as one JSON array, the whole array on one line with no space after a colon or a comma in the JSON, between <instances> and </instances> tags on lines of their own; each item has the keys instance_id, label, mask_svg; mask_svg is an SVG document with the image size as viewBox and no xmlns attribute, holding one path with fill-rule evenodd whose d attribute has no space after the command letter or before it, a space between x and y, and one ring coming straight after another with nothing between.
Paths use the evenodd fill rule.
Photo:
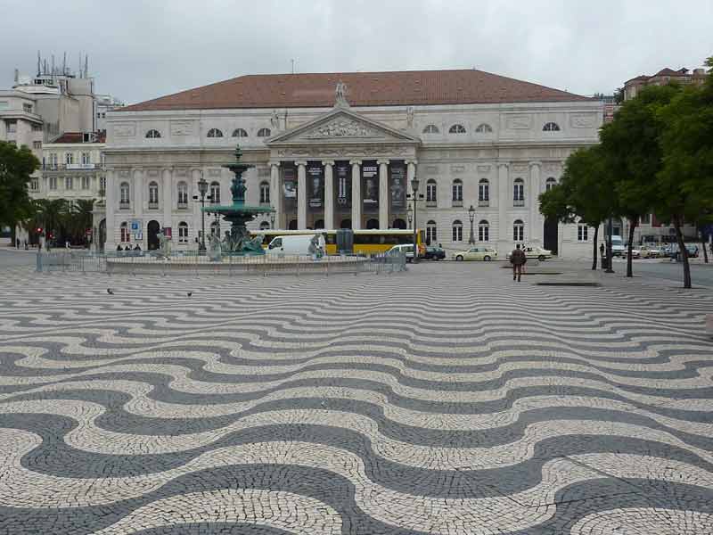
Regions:
<instances>
[{"instance_id":1,"label":"whole neoclassical theatre building, white columned facade with red tiled roof","mask_svg":"<svg viewBox=\"0 0 713 535\"><path fill-rule=\"evenodd\" d=\"M231 202L222 166L240 144L255 165L246 202L276 212L256 227L406 228L417 177L415 226L431 243L467 247L472 205L477 243L586 256L593 229L545 221L537 195L601 124L598 100L480 70L242 76L107 114L97 223L107 250L153 249L164 227L195 249L199 180L207 203Z\"/></svg>"}]
</instances>

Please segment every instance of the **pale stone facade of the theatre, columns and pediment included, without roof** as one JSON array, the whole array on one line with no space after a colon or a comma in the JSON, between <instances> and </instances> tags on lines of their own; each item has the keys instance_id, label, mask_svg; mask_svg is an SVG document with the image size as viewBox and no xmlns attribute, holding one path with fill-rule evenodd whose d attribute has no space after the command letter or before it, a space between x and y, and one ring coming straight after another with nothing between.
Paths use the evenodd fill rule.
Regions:
<instances>
[{"instance_id":1,"label":"pale stone facade of the theatre, columns and pediment included, without roof","mask_svg":"<svg viewBox=\"0 0 713 535\"><path fill-rule=\"evenodd\" d=\"M405 225L403 195L418 177L423 201L415 224L429 227L433 241L447 249L467 246L472 205L478 242L503 252L516 241L545 244L563 256L584 257L593 229L587 241L578 240L576 225L559 225L556 235L550 229L545 236L537 195L559 180L571 152L596 143L601 125L602 103L582 99L281 110L129 107L107 114L106 248L123 237L146 249L151 224L171 227L175 248L194 249L201 228L200 202L193 201L197 182L204 177L216 188L209 194L217 191L220 202L230 202L231 176L221 166L233 161L240 144L243 160L256 165L247 174L246 202L274 207L278 228ZM340 193L345 185L349 191ZM136 232L122 234L122 224L132 223ZM260 225L270 222L255 222ZM179 226L187 226L180 241Z\"/></svg>"}]
</instances>

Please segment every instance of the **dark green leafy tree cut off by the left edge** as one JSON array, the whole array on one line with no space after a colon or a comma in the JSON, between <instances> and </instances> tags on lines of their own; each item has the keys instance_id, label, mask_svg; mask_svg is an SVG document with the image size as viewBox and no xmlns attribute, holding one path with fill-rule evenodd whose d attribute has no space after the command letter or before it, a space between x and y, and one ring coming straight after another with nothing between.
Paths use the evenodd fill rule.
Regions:
<instances>
[{"instance_id":1,"label":"dark green leafy tree cut off by the left edge","mask_svg":"<svg viewBox=\"0 0 713 535\"><path fill-rule=\"evenodd\" d=\"M12 229L32 213L28 183L39 161L26 146L0 141L0 226Z\"/></svg>"}]
</instances>

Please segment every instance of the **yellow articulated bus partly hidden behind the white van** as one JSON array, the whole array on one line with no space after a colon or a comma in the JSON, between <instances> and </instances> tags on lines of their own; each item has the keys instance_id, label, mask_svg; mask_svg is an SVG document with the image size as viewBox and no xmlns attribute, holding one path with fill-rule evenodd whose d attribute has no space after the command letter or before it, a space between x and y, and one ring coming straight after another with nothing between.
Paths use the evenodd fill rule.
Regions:
<instances>
[{"instance_id":1,"label":"yellow articulated bus partly hidden behind the white van","mask_svg":"<svg viewBox=\"0 0 713 535\"><path fill-rule=\"evenodd\" d=\"M273 241L275 236L294 236L294 235L324 235L324 243L326 243L327 254L337 254L337 231L324 230L318 228L316 230L252 230L250 235L263 236L262 246L267 247L267 244ZM416 245L418 246L419 255L426 252L424 243L426 242L425 235L422 229L416 230ZM369 230L354 231L354 252L355 254L378 254L386 252L394 245L402 243L414 243L413 230L401 230L397 228L389 228L381 230L378 228Z\"/></svg>"}]
</instances>

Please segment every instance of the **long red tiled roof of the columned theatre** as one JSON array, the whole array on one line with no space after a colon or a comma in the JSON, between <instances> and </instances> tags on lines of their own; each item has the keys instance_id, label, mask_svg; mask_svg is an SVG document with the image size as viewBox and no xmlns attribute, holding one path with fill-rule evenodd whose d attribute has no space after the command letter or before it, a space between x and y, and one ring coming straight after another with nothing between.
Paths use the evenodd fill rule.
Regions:
<instances>
[{"instance_id":1,"label":"long red tiled roof of the columned theatre","mask_svg":"<svg viewBox=\"0 0 713 535\"><path fill-rule=\"evenodd\" d=\"M590 100L482 70L404 70L247 75L117 111L327 108L334 104L334 88L339 81L347 85L347 100L353 106Z\"/></svg>"}]
</instances>

